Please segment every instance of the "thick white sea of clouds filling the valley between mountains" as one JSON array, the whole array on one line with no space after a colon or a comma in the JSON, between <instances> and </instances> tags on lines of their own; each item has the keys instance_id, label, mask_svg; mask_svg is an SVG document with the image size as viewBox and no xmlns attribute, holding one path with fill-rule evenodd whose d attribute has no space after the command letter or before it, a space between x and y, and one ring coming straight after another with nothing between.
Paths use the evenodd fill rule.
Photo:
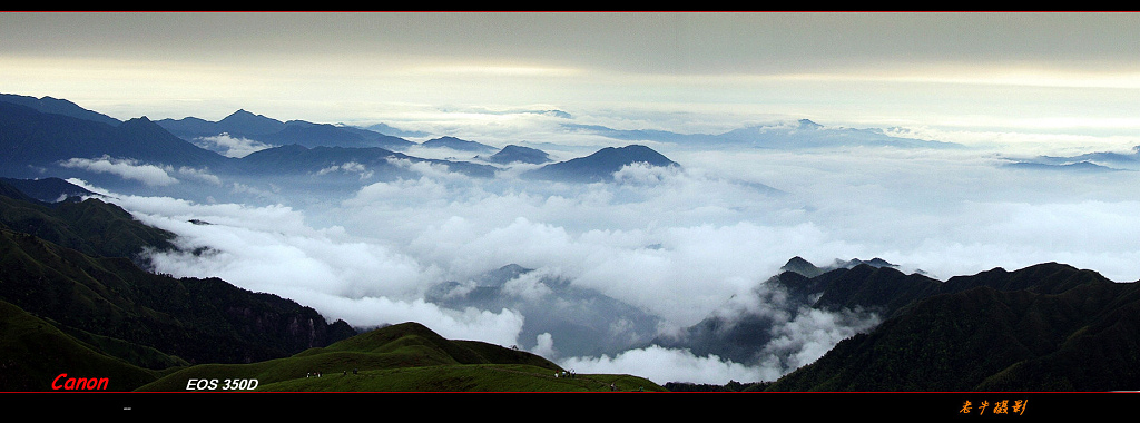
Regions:
<instances>
[{"instance_id":1,"label":"thick white sea of clouds filling the valley between mountains","mask_svg":"<svg viewBox=\"0 0 1140 423\"><path fill-rule=\"evenodd\" d=\"M510 171L480 179L400 161L417 177L360 180L350 195L319 206L130 195L114 202L179 234L186 251L205 247L199 254L156 253L160 271L219 276L353 325L417 320L445 336L500 344L520 341L526 316L448 310L424 302L423 293L516 263L556 272L676 328L748 294L796 255L816 263L879 257L939 278L1044 261L1116 280L1140 278L1140 198L1131 172L1020 171L969 151L662 153L683 168L629 166L606 184L518 180ZM115 169L152 184L186 177L106 157L73 165ZM244 181L250 192L270 182ZM288 186L274 189L278 198L306 195ZM511 292L544 294L527 282L515 282ZM563 364L658 382L772 380L872 322L856 317L866 316L790 316L766 347L783 357L779 363L643 348ZM521 341L553 353L560 339Z\"/></svg>"}]
</instances>

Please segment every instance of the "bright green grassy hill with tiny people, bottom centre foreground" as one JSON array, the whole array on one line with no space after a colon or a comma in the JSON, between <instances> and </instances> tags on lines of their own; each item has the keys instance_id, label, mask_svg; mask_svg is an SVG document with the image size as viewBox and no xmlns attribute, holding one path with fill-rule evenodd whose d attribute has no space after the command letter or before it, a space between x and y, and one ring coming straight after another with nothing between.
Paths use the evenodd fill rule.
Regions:
<instances>
[{"instance_id":1,"label":"bright green grassy hill with tiny people, bottom centre foreground","mask_svg":"<svg viewBox=\"0 0 1140 423\"><path fill-rule=\"evenodd\" d=\"M192 380L256 380L269 392L567 392L663 391L628 375L575 375L529 352L454 341L417 323L364 333L290 358L246 365L198 365L139 391L184 392ZM319 374L319 376L318 376ZM223 383L223 382L220 382Z\"/></svg>"}]
</instances>

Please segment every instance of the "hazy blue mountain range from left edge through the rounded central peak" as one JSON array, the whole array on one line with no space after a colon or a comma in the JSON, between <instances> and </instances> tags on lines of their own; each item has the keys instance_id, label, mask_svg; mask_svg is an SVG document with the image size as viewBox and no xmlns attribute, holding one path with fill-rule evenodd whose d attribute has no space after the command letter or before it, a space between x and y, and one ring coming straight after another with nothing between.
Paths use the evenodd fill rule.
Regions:
<instances>
[{"instance_id":1,"label":"hazy blue mountain range from left edge through the rounded central peak","mask_svg":"<svg viewBox=\"0 0 1140 423\"><path fill-rule=\"evenodd\" d=\"M526 176L604 181L626 164L677 165L640 145L606 147L587 157L549 163L545 152L516 145L498 149L455 137L439 137L417 145L366 129L282 122L244 109L218 122L197 117L153 122L145 116L119 122L66 100L10 95L6 98L17 103L0 98L0 151L6 153L0 157L0 174L21 179L80 177L114 185L119 177L97 173L138 172L138 168L149 166L145 171L152 176L161 173L160 177L172 171L230 177L312 174L333 178L351 173L358 179L368 174L375 180L389 180L413 177L406 166L397 164L406 161L441 164L450 171L480 178L494 177L502 169L499 166L513 163L545 163ZM259 143L259 147L242 156L227 156L226 152L202 143L210 137L243 138ZM472 160L432 160L398 152L409 146L472 153ZM484 163L477 163L480 160ZM351 172L331 171L347 169Z\"/></svg>"}]
</instances>

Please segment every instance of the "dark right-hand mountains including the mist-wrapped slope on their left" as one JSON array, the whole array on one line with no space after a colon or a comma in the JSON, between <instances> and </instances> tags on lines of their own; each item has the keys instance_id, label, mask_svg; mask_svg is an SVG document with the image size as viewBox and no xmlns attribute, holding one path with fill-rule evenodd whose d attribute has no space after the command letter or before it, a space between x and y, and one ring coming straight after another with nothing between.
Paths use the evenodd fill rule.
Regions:
<instances>
[{"instance_id":1,"label":"dark right-hand mountains including the mist-wrapped slope on their left","mask_svg":"<svg viewBox=\"0 0 1140 423\"><path fill-rule=\"evenodd\" d=\"M1140 385L1135 284L1066 265L996 268L946 282L882 260L783 272L676 336L653 343L792 372L788 391L1127 390ZM828 325L806 325L808 322ZM800 361L797 332L844 334ZM816 340L819 341L819 340ZM806 344L805 344L806 345ZM828 345L830 348L831 345ZM1083 355L1097 357L1084 360ZM799 369L797 369L799 368ZM1114 372L1113 369L1117 369Z\"/></svg>"}]
</instances>

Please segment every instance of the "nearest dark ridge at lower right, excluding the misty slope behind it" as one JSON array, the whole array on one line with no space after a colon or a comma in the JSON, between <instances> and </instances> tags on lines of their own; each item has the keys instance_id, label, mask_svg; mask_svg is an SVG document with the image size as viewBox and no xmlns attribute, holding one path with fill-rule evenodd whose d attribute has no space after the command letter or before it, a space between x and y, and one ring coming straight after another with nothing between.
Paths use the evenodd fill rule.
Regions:
<instances>
[{"instance_id":1,"label":"nearest dark ridge at lower right, excluding the misty slope behind it","mask_svg":"<svg viewBox=\"0 0 1140 423\"><path fill-rule=\"evenodd\" d=\"M1134 390L1137 286L1060 263L958 276L768 389Z\"/></svg>"}]
</instances>

